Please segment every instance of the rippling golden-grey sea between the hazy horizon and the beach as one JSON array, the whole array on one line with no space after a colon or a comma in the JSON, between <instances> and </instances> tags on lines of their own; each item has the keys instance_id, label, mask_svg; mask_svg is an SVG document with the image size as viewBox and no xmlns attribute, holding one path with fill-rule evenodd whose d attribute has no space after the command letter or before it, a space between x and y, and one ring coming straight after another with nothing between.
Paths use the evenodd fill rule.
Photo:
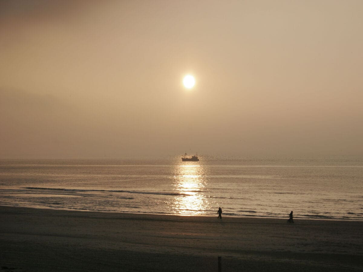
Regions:
<instances>
[{"instance_id":1,"label":"rippling golden-grey sea between the hazy horizon and the beach","mask_svg":"<svg viewBox=\"0 0 363 272\"><path fill-rule=\"evenodd\" d=\"M363 220L363 158L0 160L0 205Z\"/></svg>"}]
</instances>

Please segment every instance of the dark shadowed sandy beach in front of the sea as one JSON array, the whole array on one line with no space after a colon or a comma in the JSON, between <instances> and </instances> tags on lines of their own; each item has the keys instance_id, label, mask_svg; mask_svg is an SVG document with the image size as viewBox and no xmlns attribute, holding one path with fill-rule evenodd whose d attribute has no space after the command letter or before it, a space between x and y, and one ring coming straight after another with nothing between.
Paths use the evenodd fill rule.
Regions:
<instances>
[{"instance_id":1,"label":"dark shadowed sandy beach in front of the sea","mask_svg":"<svg viewBox=\"0 0 363 272\"><path fill-rule=\"evenodd\" d=\"M0 206L0 271L363 271L363 222Z\"/></svg>"}]
</instances>

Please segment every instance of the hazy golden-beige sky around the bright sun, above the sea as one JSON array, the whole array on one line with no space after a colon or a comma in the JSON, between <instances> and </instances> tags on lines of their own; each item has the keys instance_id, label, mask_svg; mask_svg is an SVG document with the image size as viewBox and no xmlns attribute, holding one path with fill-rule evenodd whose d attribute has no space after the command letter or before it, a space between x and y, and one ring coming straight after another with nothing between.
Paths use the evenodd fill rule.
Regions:
<instances>
[{"instance_id":1,"label":"hazy golden-beige sky around the bright sun, above the sea","mask_svg":"<svg viewBox=\"0 0 363 272\"><path fill-rule=\"evenodd\" d=\"M362 155L362 14L361 0L1 0L0 158Z\"/></svg>"}]
</instances>

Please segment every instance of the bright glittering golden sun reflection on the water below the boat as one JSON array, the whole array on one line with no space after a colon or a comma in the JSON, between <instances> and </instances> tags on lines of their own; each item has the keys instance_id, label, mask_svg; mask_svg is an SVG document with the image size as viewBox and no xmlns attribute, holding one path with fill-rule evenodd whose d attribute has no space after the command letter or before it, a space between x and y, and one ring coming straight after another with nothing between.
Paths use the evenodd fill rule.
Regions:
<instances>
[{"instance_id":1,"label":"bright glittering golden sun reflection on the water below the boat","mask_svg":"<svg viewBox=\"0 0 363 272\"><path fill-rule=\"evenodd\" d=\"M177 165L174 168L174 186L179 194L171 203L176 214L200 215L207 213L208 190L206 171L202 165Z\"/></svg>"}]
</instances>

